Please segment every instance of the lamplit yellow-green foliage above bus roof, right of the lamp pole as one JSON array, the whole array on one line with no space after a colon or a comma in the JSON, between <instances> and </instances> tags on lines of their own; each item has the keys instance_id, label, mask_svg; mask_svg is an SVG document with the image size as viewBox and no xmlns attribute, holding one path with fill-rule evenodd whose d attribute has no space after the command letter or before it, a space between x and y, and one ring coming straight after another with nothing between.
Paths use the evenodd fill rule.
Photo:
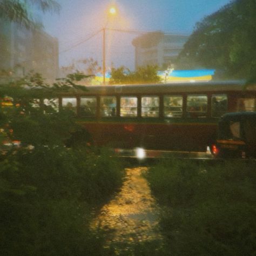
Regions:
<instances>
[{"instance_id":1,"label":"lamplit yellow-green foliage above bus roof, right of the lamp pole","mask_svg":"<svg viewBox=\"0 0 256 256\"><path fill-rule=\"evenodd\" d=\"M137 71L130 71L124 66L111 70L111 84L146 84L160 83L160 77L157 75L157 66L147 65L139 67Z\"/></svg>"}]
</instances>

